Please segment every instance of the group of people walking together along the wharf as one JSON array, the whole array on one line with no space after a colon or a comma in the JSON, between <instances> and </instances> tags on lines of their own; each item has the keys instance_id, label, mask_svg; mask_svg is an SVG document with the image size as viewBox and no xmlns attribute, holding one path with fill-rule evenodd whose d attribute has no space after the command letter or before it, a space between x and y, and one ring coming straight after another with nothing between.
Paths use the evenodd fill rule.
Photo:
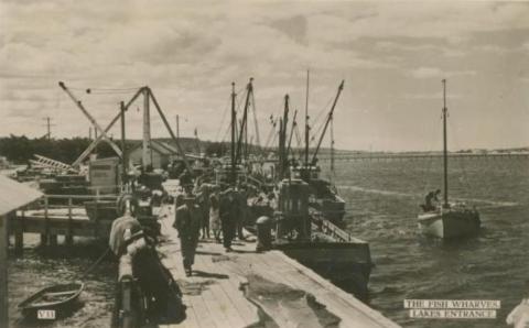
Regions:
<instances>
[{"instance_id":1,"label":"group of people walking together along the wharf","mask_svg":"<svg viewBox=\"0 0 529 328\"><path fill-rule=\"evenodd\" d=\"M237 237L245 240L244 225L249 216L248 194L245 185L220 192L218 186L203 183L194 193L184 188L175 198L175 220L173 228L179 232L184 271L192 275L194 255L198 240L209 239L223 243L226 252L231 252L231 242Z\"/></svg>"}]
</instances>

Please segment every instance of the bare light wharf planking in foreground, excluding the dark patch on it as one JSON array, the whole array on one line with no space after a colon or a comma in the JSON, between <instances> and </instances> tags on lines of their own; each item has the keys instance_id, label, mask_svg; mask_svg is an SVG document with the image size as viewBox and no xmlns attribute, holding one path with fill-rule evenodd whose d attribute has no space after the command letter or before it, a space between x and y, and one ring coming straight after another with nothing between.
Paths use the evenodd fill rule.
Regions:
<instances>
[{"instance_id":1,"label":"bare light wharf planking in foreground, excluding the dark patch on it","mask_svg":"<svg viewBox=\"0 0 529 328\"><path fill-rule=\"evenodd\" d=\"M187 317L179 325L160 327L235 328L259 322L258 308L239 288L252 274L314 295L330 313L341 318L339 327L399 327L282 252L256 253L256 243L251 241L235 242L231 253L225 253L222 244L212 240L201 242L193 265L194 274L185 277L179 238L171 227L173 214L162 209L161 216L164 214L166 217L161 221L165 241L159 251L184 293ZM300 319L289 318L289 311L273 315L281 316L276 318L277 322L291 322L287 325L289 327L296 327Z\"/></svg>"}]
</instances>

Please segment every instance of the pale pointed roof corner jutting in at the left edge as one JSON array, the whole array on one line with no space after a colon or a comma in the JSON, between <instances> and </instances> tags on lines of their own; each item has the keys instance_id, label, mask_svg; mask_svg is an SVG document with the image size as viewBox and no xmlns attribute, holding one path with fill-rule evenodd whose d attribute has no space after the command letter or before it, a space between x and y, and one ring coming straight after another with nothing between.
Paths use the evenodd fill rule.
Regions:
<instances>
[{"instance_id":1,"label":"pale pointed roof corner jutting in at the left edge","mask_svg":"<svg viewBox=\"0 0 529 328\"><path fill-rule=\"evenodd\" d=\"M0 175L0 216L24 206L41 196L41 192Z\"/></svg>"}]
</instances>

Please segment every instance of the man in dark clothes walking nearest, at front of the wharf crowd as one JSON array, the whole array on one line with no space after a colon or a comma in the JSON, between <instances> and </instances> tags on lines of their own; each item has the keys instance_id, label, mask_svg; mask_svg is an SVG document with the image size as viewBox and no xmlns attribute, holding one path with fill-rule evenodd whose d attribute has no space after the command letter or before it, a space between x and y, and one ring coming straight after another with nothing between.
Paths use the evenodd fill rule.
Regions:
<instances>
[{"instance_id":1,"label":"man in dark clothes walking nearest, at front of the wharf crowd","mask_svg":"<svg viewBox=\"0 0 529 328\"><path fill-rule=\"evenodd\" d=\"M202 216L195 197L184 196L184 205L176 208L176 218L173 227L179 231L180 250L184 262L185 275L192 274L192 265L195 261L195 251L198 244Z\"/></svg>"}]
</instances>

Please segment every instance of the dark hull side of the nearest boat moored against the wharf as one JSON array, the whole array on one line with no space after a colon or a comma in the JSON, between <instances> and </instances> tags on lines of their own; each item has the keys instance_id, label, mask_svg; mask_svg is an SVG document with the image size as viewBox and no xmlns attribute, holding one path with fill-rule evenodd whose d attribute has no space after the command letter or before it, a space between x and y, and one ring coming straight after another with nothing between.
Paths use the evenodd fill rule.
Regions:
<instances>
[{"instance_id":1,"label":"dark hull side of the nearest boat moored against the wharf","mask_svg":"<svg viewBox=\"0 0 529 328\"><path fill-rule=\"evenodd\" d=\"M373 267L367 242L289 242L276 244L276 249L357 298L367 300Z\"/></svg>"}]
</instances>

